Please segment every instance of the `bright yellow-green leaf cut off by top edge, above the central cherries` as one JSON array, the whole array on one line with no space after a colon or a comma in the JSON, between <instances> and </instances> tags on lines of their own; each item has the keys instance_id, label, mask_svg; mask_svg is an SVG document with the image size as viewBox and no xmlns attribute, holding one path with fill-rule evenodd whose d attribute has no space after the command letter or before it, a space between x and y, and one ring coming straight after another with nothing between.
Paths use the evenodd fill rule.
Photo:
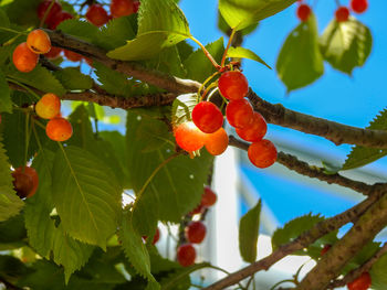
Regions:
<instances>
[{"instance_id":1,"label":"bright yellow-green leaf cut off by top edge, above the central cherries","mask_svg":"<svg viewBox=\"0 0 387 290\"><path fill-rule=\"evenodd\" d=\"M296 0L219 0L219 11L231 29L242 30L293 4Z\"/></svg>"}]
</instances>

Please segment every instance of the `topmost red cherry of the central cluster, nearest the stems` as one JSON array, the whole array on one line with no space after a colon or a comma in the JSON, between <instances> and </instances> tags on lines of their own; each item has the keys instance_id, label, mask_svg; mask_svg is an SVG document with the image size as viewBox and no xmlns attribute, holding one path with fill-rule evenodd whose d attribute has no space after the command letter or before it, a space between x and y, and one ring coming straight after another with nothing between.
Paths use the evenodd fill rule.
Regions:
<instances>
[{"instance_id":1,"label":"topmost red cherry of the central cluster, nearest the stems","mask_svg":"<svg viewBox=\"0 0 387 290\"><path fill-rule=\"evenodd\" d=\"M238 71L223 73L218 80L220 94L228 99L242 99L249 93L245 76Z\"/></svg>"}]
</instances>

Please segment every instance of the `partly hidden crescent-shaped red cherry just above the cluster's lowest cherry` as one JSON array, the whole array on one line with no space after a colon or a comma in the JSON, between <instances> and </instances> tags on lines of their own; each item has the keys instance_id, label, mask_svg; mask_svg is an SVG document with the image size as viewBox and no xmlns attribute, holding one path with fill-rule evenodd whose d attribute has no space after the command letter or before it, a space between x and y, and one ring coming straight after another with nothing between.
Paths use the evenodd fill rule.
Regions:
<instances>
[{"instance_id":1,"label":"partly hidden crescent-shaped red cherry just above the cluster's lowest cherry","mask_svg":"<svg viewBox=\"0 0 387 290\"><path fill-rule=\"evenodd\" d=\"M240 138L249 142L258 142L262 140L266 133L268 125L261 114L254 111L251 122L242 128L237 128L236 131Z\"/></svg>"}]
</instances>

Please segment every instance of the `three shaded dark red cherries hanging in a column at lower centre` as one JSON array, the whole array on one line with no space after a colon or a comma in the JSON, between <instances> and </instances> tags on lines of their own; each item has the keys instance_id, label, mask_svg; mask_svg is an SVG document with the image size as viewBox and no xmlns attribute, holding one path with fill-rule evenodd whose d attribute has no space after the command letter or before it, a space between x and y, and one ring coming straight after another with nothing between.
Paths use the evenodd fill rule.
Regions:
<instances>
[{"instance_id":1,"label":"three shaded dark red cherries hanging in a column at lower centre","mask_svg":"<svg viewBox=\"0 0 387 290\"><path fill-rule=\"evenodd\" d=\"M209 186L205 186L201 202L194 210L191 215L202 214L205 208L212 206L217 202L217 195ZM194 244L201 244L206 237L207 228L201 221L192 221L185 227L185 237L187 243L177 248L177 261L182 267L194 265L196 259L196 249Z\"/></svg>"}]
</instances>

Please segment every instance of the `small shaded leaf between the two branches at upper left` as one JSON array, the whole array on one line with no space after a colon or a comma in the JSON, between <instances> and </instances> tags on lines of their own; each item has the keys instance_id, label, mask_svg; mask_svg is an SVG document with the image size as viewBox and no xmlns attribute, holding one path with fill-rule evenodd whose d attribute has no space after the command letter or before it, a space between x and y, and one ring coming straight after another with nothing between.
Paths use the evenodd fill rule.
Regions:
<instances>
[{"instance_id":1,"label":"small shaded leaf between the two branches at upper left","mask_svg":"<svg viewBox=\"0 0 387 290\"><path fill-rule=\"evenodd\" d=\"M93 86L93 79L74 67L56 71L54 75L67 90L90 89Z\"/></svg>"}]
</instances>

